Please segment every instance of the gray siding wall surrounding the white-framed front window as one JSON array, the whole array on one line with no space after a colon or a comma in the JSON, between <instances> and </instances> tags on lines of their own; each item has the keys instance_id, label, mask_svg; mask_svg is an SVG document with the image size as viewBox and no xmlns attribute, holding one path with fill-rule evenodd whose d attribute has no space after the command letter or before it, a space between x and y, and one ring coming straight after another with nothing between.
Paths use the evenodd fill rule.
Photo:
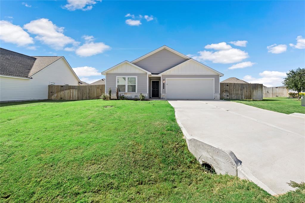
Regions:
<instances>
[{"instance_id":1,"label":"gray siding wall surrounding the white-framed front window","mask_svg":"<svg viewBox=\"0 0 305 203\"><path fill-rule=\"evenodd\" d=\"M138 94L147 94L147 73L106 73L106 93L108 93L109 87L111 87L112 93L115 93L117 76L137 76Z\"/></svg>"}]
</instances>

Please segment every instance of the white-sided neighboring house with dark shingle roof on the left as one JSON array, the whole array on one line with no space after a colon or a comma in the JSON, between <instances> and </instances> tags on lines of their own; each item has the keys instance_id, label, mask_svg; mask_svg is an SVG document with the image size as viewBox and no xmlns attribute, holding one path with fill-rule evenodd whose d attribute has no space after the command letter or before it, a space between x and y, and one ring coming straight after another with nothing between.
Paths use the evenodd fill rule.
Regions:
<instances>
[{"instance_id":1,"label":"white-sided neighboring house with dark shingle roof on the left","mask_svg":"<svg viewBox=\"0 0 305 203\"><path fill-rule=\"evenodd\" d=\"M48 85L81 81L63 56L28 56L0 48L0 101L48 99Z\"/></svg>"}]
</instances>

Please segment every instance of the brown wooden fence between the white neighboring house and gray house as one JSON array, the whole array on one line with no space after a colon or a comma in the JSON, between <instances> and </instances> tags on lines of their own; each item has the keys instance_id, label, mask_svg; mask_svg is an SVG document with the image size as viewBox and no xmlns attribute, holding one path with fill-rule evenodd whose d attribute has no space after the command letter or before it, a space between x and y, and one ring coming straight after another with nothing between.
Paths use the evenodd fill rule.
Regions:
<instances>
[{"instance_id":1,"label":"brown wooden fence between the white neighboring house and gray house","mask_svg":"<svg viewBox=\"0 0 305 203\"><path fill-rule=\"evenodd\" d=\"M86 100L99 99L105 93L105 85L49 85L48 99Z\"/></svg>"}]
</instances>

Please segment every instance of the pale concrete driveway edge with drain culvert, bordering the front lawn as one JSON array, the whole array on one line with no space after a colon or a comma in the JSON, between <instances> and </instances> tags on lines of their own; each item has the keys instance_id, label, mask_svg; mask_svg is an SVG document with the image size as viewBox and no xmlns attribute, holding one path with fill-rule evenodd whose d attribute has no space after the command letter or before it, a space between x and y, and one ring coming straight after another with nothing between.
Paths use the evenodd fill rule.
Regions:
<instances>
[{"instance_id":1,"label":"pale concrete driveway edge with drain culvert, bordering the front lawn","mask_svg":"<svg viewBox=\"0 0 305 203\"><path fill-rule=\"evenodd\" d=\"M208 143L205 143L203 141L199 141L196 138L191 138L191 136L188 134L188 132L186 131L186 129L184 128L184 126L182 125L182 123L180 122L180 120L177 118L176 116L176 110L175 110L175 118L176 121L178 123L178 125L181 128L181 131L185 137L185 141L186 144L188 145L188 150L197 158L197 160L202 163L203 160L201 160L201 156L200 155L198 157L198 154L196 152L198 152L197 148L192 149L190 147L190 142L192 141L196 141L197 143L201 143L203 145L207 145L210 146L211 148L215 148L220 150L223 154L228 155L230 160L225 160L226 162L228 162L228 165L234 166L236 167L236 173L229 173L230 169L227 168L228 171L226 171L226 169L224 169L226 171L226 173L228 173L229 175L232 176L238 176L241 179L248 179L250 181L252 181L253 183L257 184L260 188L264 189L265 191L267 191L269 194L271 195L277 195L274 191L272 191L267 185L265 185L264 183L262 183L260 180L258 180L255 176L253 176L253 174L249 171L249 169L247 169L245 166L242 166L242 164L239 162L239 159L236 157L236 155L234 154L233 151L229 150L229 149L225 149L225 148L218 148L216 146L210 145ZM218 152L217 152L218 153ZM197 154L197 155L196 155ZM211 157L212 159L214 159L213 157ZM215 168L215 171L217 173L220 173L219 171L217 171L216 169L218 168L217 166L213 166ZM224 173L221 173L224 174Z\"/></svg>"}]
</instances>

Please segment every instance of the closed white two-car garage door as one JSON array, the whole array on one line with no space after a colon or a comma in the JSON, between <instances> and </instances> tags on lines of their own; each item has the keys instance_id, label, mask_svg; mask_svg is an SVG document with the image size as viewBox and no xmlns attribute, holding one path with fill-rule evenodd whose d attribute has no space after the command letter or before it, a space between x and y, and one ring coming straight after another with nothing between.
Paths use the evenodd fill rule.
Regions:
<instances>
[{"instance_id":1,"label":"closed white two-car garage door","mask_svg":"<svg viewBox=\"0 0 305 203\"><path fill-rule=\"evenodd\" d=\"M168 99L214 99L213 78L167 78Z\"/></svg>"}]
</instances>

